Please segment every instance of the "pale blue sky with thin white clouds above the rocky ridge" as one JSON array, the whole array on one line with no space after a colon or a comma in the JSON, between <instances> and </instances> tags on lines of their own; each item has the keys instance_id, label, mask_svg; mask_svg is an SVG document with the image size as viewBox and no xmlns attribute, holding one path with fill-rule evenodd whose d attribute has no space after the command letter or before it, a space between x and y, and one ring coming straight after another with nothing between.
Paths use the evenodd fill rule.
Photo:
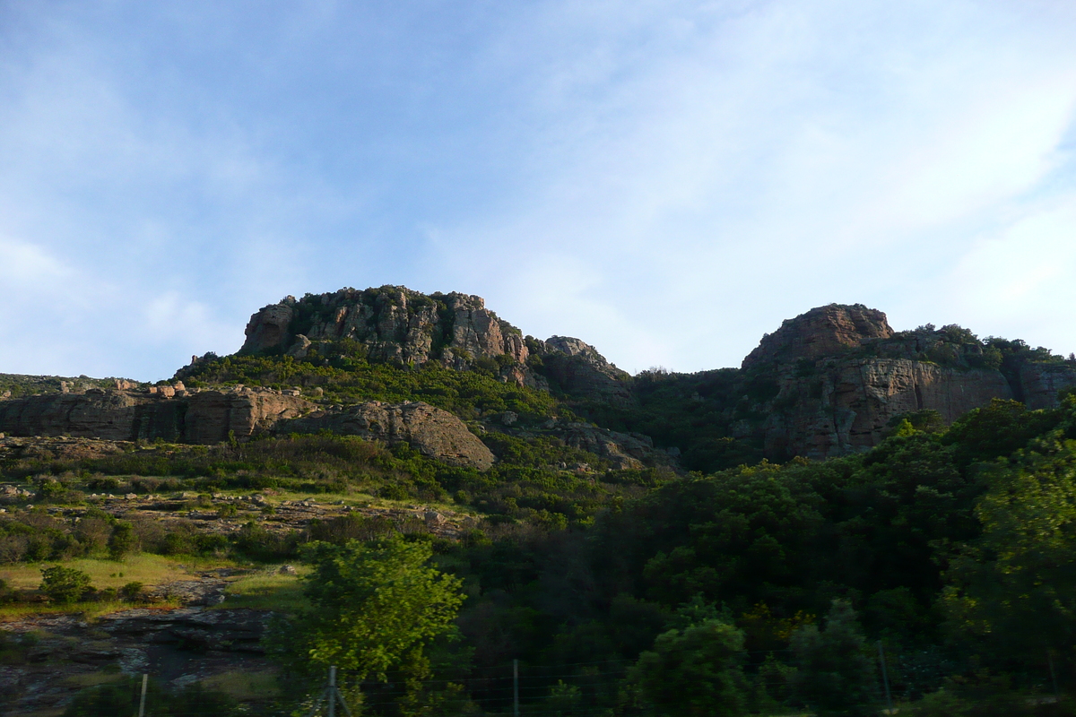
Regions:
<instances>
[{"instance_id":1,"label":"pale blue sky with thin white clouds above the rocky ridge","mask_svg":"<svg viewBox=\"0 0 1076 717\"><path fill-rule=\"evenodd\" d=\"M619 367L813 306L1076 352L1071 0L0 0L0 372L167 378L286 295Z\"/></svg>"}]
</instances>

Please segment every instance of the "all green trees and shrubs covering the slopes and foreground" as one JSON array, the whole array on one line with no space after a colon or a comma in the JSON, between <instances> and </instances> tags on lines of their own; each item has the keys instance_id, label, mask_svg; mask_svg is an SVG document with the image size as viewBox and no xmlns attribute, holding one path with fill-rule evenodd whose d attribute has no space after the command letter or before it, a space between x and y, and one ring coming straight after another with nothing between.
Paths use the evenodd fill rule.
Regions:
<instances>
[{"instance_id":1,"label":"all green trees and shrubs covering the slopes and foreground","mask_svg":"<svg viewBox=\"0 0 1076 717\"><path fill-rule=\"evenodd\" d=\"M682 397L728 383L643 376L642 407L603 416L500 383L495 367L393 367L346 346L325 358L217 358L185 381L306 376L339 402L423 400L471 421L511 411L524 426L584 416L655 436L688 433ZM706 425L717 428L690 443L684 473L615 470L507 431L482 435L498 458L486 472L328 434L14 456L0 469L33 490L34 507L0 516L0 561L40 564L56 604L138 603L139 586L103 596L53 567L74 558L307 565L301 601L266 636L279 664L271 699L251 707L156 686L151 701L169 706L152 714L307 714L336 665L353 714L508 715L513 660L523 715L876 715L887 693L901 714L1074 714L1076 396L1040 411L995 400L950 427L908 414L880 445L825 461L770 463ZM479 521L458 540L358 515L206 534L48 510L91 492L266 490L456 506ZM28 599L0 586L8 607ZM26 650L5 639L0 661ZM137 714L132 689L110 682L65 714Z\"/></svg>"}]
</instances>

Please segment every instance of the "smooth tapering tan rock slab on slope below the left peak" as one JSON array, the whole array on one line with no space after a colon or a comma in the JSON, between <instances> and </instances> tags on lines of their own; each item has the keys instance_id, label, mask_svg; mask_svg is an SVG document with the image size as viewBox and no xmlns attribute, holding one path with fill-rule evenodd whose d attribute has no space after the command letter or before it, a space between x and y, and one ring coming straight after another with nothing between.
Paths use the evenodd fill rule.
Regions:
<instances>
[{"instance_id":1,"label":"smooth tapering tan rock slab on slope below the left peak","mask_svg":"<svg viewBox=\"0 0 1076 717\"><path fill-rule=\"evenodd\" d=\"M359 435L388 445L407 443L424 456L452 465L485 470L494 456L467 425L448 411L428 403L382 403L370 401L344 411L321 411L305 418L284 421L283 432L328 430L342 435Z\"/></svg>"}]
</instances>

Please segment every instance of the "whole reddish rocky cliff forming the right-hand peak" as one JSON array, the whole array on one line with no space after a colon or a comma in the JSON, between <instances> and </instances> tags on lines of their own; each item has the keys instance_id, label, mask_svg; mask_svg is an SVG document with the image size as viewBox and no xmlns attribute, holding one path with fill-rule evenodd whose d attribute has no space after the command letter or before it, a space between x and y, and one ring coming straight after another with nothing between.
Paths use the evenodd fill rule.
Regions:
<instances>
[{"instance_id":1,"label":"whole reddish rocky cliff forming the right-hand peak","mask_svg":"<svg viewBox=\"0 0 1076 717\"><path fill-rule=\"evenodd\" d=\"M831 304L785 320L744 360L740 413L755 418L732 430L761 438L771 458L825 458L877 445L904 414L935 411L951 424L992 399L1050 407L1076 385L1076 365L1060 360L1010 374L966 329L897 333L877 310Z\"/></svg>"}]
</instances>

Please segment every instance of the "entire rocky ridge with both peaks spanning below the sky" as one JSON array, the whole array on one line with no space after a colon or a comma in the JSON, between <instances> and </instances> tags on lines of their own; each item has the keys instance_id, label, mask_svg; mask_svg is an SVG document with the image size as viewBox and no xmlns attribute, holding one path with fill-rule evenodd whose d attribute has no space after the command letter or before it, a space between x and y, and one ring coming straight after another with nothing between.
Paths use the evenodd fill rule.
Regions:
<instances>
[{"instance_id":1,"label":"entire rocky ridge with both peaks spanning below the sky","mask_svg":"<svg viewBox=\"0 0 1076 717\"><path fill-rule=\"evenodd\" d=\"M0 431L214 443L329 430L487 468L493 457L463 418L480 433L537 431L623 465L682 455L709 471L861 451L901 417L950 424L993 399L1050 407L1076 386L1076 362L958 326L897 332L878 310L831 304L765 334L739 369L633 377L579 339L524 336L481 297L384 286L285 297L251 317L239 354L196 358L173 381L13 396L0 402ZM561 424L539 428L550 419ZM640 448L652 443L660 450Z\"/></svg>"}]
</instances>

